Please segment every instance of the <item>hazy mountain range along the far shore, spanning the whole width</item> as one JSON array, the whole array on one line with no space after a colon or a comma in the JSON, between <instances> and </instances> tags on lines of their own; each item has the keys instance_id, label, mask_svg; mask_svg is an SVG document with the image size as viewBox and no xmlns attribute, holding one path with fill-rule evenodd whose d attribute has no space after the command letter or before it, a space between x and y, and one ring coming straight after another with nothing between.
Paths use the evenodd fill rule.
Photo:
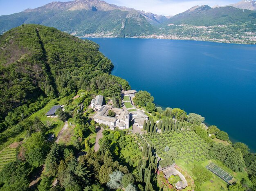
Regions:
<instances>
[{"instance_id":1,"label":"hazy mountain range along the far shore, spanning the whole width","mask_svg":"<svg viewBox=\"0 0 256 191\"><path fill-rule=\"evenodd\" d=\"M243 7L245 4L255 5L255 2L243 0L238 4ZM232 6L214 9L208 5L195 6L175 16L165 17L118 7L101 0L52 2L36 9L0 16L0 33L21 24L52 26L79 37L161 37L239 43L256 41L256 12Z\"/></svg>"}]
</instances>

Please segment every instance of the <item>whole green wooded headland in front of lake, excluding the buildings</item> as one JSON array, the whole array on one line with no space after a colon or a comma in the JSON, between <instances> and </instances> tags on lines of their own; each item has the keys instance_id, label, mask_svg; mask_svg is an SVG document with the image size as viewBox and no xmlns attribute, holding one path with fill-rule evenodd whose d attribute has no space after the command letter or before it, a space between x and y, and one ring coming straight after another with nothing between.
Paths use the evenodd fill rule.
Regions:
<instances>
[{"instance_id":1,"label":"whole green wooded headland in front of lake, excluding the buildings","mask_svg":"<svg viewBox=\"0 0 256 191\"><path fill-rule=\"evenodd\" d=\"M247 145L206 127L199 114L156 107L149 92L133 98L149 118L141 133L92 120L95 95L121 108L121 91L130 90L110 75L113 65L97 44L29 24L4 33L0 47L0 190L175 191L179 178L166 180L158 170L173 162L188 182L185 191L256 190L256 155ZM64 110L45 116L54 105ZM234 181L207 170L209 162Z\"/></svg>"}]
</instances>

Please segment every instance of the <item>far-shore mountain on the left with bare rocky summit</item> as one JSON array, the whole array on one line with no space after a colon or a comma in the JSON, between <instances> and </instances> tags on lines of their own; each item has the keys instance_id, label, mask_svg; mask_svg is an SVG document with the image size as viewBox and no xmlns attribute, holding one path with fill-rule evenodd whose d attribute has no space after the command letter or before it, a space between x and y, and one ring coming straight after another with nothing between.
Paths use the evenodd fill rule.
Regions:
<instances>
[{"instance_id":1,"label":"far-shore mountain on the left with bare rocky summit","mask_svg":"<svg viewBox=\"0 0 256 191\"><path fill-rule=\"evenodd\" d=\"M148 35L155 31L151 24L167 20L164 16L118 7L100 0L52 2L36 9L0 16L0 33L21 24L53 26L67 33L111 35L117 37ZM151 23L151 24L150 24Z\"/></svg>"}]
</instances>

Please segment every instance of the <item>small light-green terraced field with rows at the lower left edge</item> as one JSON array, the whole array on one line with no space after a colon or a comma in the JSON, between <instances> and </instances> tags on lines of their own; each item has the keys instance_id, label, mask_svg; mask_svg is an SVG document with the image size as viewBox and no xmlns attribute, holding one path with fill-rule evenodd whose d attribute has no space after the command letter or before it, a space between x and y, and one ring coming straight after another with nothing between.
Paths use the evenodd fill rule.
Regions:
<instances>
[{"instance_id":1,"label":"small light-green terraced field with rows at the lower left edge","mask_svg":"<svg viewBox=\"0 0 256 191\"><path fill-rule=\"evenodd\" d=\"M2 149L0 151L0 170L4 165L14 160L16 160L16 148L8 146Z\"/></svg>"}]
</instances>

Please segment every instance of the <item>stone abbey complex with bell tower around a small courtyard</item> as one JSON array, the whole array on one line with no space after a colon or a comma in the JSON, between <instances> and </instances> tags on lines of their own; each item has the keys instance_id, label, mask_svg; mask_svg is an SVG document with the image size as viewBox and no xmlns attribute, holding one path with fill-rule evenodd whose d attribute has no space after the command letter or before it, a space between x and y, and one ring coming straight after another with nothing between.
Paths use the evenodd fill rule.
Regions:
<instances>
[{"instance_id":1,"label":"stone abbey complex with bell tower around a small courtyard","mask_svg":"<svg viewBox=\"0 0 256 191\"><path fill-rule=\"evenodd\" d=\"M116 116L108 116L109 110L115 112ZM124 130L129 129L132 116L127 110L113 108L111 105L103 105L93 119L96 123L110 126L111 130L114 130L115 127L119 127L120 130Z\"/></svg>"}]
</instances>

